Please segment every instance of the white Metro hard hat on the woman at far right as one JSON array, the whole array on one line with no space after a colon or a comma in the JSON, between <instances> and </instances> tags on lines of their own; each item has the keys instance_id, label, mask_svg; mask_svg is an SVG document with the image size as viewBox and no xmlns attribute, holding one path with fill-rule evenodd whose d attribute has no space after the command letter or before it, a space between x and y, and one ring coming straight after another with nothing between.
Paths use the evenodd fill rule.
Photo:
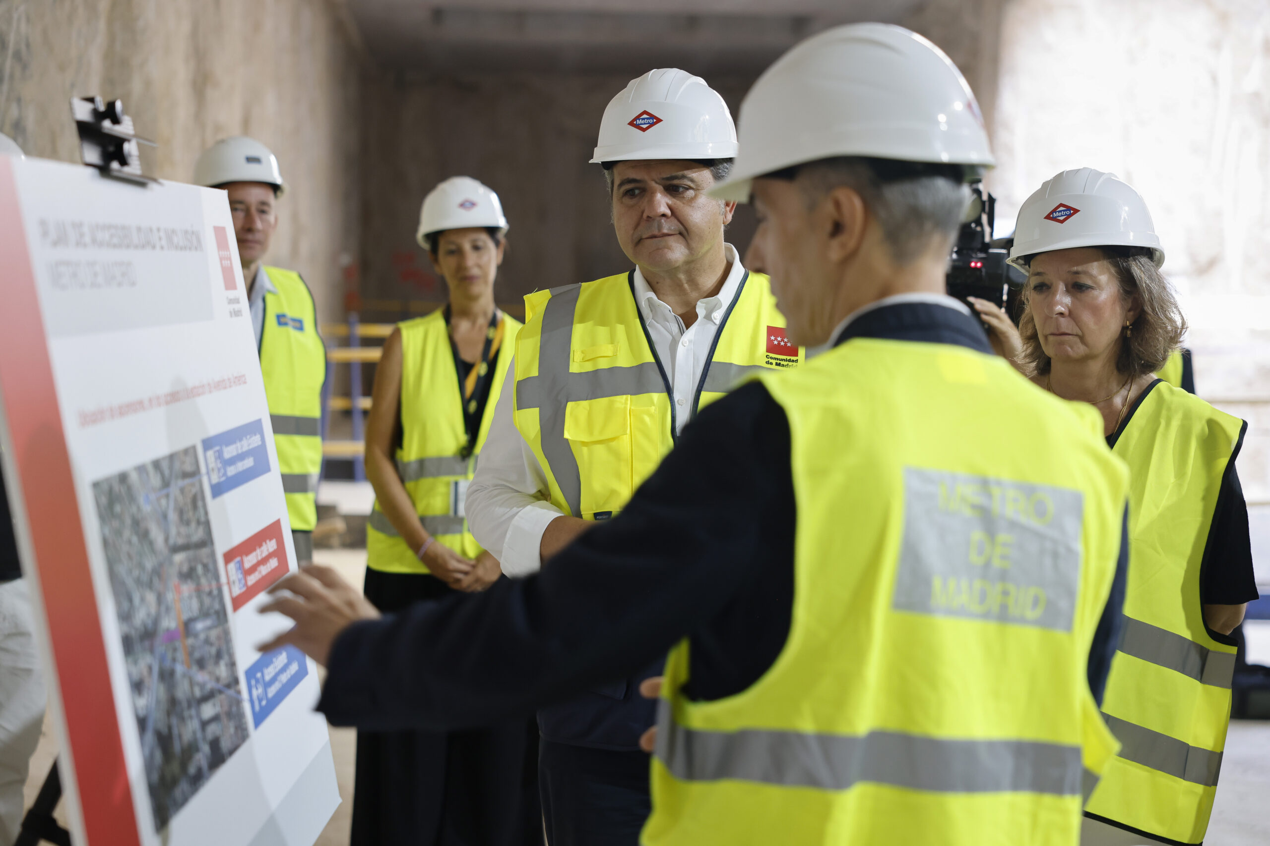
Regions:
<instances>
[{"instance_id":1,"label":"white Metro hard hat on the woman at far right","mask_svg":"<svg viewBox=\"0 0 1270 846\"><path fill-rule=\"evenodd\" d=\"M1029 256L1072 247L1147 247L1160 268L1165 251L1142 195L1115 174L1064 170L1019 209L1010 264L1027 273Z\"/></svg>"}]
</instances>

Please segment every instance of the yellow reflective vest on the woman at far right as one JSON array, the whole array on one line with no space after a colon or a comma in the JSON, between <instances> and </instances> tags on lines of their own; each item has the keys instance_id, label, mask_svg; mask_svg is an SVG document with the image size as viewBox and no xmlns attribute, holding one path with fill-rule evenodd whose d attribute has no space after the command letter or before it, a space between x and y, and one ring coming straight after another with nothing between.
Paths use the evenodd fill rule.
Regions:
<instances>
[{"instance_id":1,"label":"yellow reflective vest on the woman at far right","mask_svg":"<svg viewBox=\"0 0 1270 846\"><path fill-rule=\"evenodd\" d=\"M1157 383L1113 449L1133 477L1124 630L1102 699L1121 746L1086 810L1182 843L1204 840L1231 719L1234 647L1204 627L1199 580L1246 426Z\"/></svg>"}]
</instances>

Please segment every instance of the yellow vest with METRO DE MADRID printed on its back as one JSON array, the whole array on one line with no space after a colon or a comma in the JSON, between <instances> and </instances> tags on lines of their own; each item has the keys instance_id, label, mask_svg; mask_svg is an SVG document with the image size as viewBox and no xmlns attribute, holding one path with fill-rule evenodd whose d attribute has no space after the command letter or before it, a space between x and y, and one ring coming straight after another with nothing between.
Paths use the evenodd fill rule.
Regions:
<instances>
[{"instance_id":1,"label":"yellow vest with METRO DE MADRID printed on its back","mask_svg":"<svg viewBox=\"0 0 1270 846\"><path fill-rule=\"evenodd\" d=\"M641 842L1076 846L1115 751L1087 680L1128 491L1101 416L946 344L852 339L762 382L789 638L714 701L672 651Z\"/></svg>"}]
</instances>

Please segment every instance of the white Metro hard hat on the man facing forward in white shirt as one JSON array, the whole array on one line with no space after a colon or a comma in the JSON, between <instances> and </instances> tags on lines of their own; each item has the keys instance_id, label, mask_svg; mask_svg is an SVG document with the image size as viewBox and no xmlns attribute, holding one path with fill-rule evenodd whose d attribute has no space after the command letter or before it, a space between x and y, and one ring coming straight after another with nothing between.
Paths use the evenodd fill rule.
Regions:
<instances>
[{"instance_id":1,"label":"white Metro hard hat on the man facing forward in white shirt","mask_svg":"<svg viewBox=\"0 0 1270 846\"><path fill-rule=\"evenodd\" d=\"M719 93L674 67L649 71L608 101L596 162L632 159L733 159L737 126Z\"/></svg>"}]
</instances>

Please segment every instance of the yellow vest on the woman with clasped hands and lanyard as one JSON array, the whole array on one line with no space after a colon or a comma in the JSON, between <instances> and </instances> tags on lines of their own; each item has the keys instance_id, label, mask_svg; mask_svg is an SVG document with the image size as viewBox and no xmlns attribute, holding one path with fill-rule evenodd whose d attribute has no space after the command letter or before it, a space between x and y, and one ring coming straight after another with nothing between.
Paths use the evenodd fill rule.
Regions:
<instances>
[{"instance_id":1,"label":"yellow vest on the woman with clasped hands and lanyard","mask_svg":"<svg viewBox=\"0 0 1270 846\"><path fill-rule=\"evenodd\" d=\"M490 363L494 368L489 400L471 455L464 455L467 431L450 327L443 309L398 323L401 331L401 446L396 450L398 476L405 485L423 528L455 552L475 558L483 550L464 516L464 490L476 472L494 406L512 360L513 340L521 322L502 316L503 341ZM495 331L493 327L490 331ZM478 365L480 367L480 365ZM366 525L366 566L387 573L425 573L398 530L380 510L378 501Z\"/></svg>"}]
</instances>

